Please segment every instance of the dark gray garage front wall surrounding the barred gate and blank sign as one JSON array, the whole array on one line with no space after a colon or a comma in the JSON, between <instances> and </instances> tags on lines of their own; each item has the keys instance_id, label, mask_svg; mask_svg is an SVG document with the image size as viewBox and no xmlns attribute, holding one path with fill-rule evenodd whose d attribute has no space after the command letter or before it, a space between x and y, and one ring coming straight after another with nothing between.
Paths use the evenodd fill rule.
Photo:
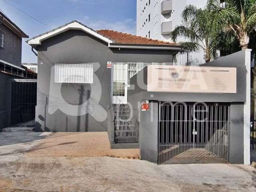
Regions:
<instances>
[{"instance_id":1,"label":"dark gray garage front wall surrounding the barred gate and blank sign","mask_svg":"<svg viewBox=\"0 0 256 192\"><path fill-rule=\"evenodd\" d=\"M234 164L244 163L244 105L246 102L246 51L242 50L204 66L236 67L236 94L201 94L201 93L166 93L147 92L147 68L140 71L130 80L134 90L128 90L128 102L138 108L138 102L150 101L150 110L140 111L140 151L143 160L157 162L158 154L158 102L227 102L230 103L229 161ZM138 79L144 79L144 86L139 86ZM153 120L153 121L152 121Z\"/></svg>"}]
</instances>

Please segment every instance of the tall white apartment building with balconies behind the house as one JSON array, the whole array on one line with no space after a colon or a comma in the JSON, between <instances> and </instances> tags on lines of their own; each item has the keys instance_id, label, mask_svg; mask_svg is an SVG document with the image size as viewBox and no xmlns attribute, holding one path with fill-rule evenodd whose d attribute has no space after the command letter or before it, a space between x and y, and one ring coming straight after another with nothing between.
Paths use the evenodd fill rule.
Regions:
<instances>
[{"instance_id":1,"label":"tall white apartment building with balconies behind the house","mask_svg":"<svg viewBox=\"0 0 256 192\"><path fill-rule=\"evenodd\" d=\"M199 8L207 0L137 0L137 35L171 42L170 33L182 24L181 14L186 5ZM178 42L185 41L179 38ZM178 58L177 58L178 59ZM204 63L204 51L190 54L188 60Z\"/></svg>"}]
</instances>

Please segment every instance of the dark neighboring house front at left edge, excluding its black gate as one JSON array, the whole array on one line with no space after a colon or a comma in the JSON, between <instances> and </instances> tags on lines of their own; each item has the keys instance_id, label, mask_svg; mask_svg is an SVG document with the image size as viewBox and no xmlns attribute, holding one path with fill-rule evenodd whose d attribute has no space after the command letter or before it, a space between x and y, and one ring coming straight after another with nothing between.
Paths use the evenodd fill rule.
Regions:
<instances>
[{"instance_id":1,"label":"dark neighboring house front at left edge, excluding its black gate","mask_svg":"<svg viewBox=\"0 0 256 192\"><path fill-rule=\"evenodd\" d=\"M4 48L0 47L0 132L10 126L10 79L21 78L17 67L21 67L22 37L28 37L16 24L0 12L0 31L4 33ZM24 70L25 71L25 70ZM21 70L19 69L19 72ZM8 74L9 73L9 74ZM12 75L11 73L15 74Z\"/></svg>"}]
</instances>

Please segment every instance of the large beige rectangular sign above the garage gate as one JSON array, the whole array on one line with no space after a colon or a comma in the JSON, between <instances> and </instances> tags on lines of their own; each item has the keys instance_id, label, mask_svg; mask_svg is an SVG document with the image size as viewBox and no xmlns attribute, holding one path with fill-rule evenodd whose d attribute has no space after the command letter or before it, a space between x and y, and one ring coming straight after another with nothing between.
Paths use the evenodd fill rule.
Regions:
<instances>
[{"instance_id":1,"label":"large beige rectangular sign above the garage gate","mask_svg":"<svg viewBox=\"0 0 256 192\"><path fill-rule=\"evenodd\" d=\"M236 93L236 68L148 66L150 92Z\"/></svg>"}]
</instances>

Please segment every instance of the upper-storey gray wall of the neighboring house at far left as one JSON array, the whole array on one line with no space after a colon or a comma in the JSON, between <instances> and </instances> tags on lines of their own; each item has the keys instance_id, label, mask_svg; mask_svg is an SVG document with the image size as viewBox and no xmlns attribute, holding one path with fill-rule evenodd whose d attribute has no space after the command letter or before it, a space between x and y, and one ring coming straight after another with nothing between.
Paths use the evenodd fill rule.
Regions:
<instances>
[{"instance_id":1,"label":"upper-storey gray wall of the neighboring house at far left","mask_svg":"<svg viewBox=\"0 0 256 192\"><path fill-rule=\"evenodd\" d=\"M0 59L21 66L22 38L4 24L0 24L0 30L4 32L5 39L4 48L0 48Z\"/></svg>"}]
</instances>

